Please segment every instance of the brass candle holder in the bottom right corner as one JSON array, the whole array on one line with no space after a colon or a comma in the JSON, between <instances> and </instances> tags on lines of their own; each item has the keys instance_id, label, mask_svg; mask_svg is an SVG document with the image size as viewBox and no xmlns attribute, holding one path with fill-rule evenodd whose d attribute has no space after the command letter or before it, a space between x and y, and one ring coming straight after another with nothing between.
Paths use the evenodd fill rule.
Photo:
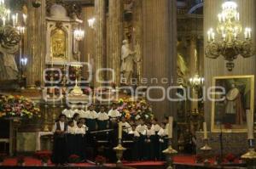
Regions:
<instances>
[{"instance_id":1,"label":"brass candle holder in the bottom right corner","mask_svg":"<svg viewBox=\"0 0 256 169\"><path fill-rule=\"evenodd\" d=\"M241 155L241 159L247 162L247 168L253 169L256 166L256 152L254 149L254 139L248 139L249 149L246 154Z\"/></svg>"}]
</instances>

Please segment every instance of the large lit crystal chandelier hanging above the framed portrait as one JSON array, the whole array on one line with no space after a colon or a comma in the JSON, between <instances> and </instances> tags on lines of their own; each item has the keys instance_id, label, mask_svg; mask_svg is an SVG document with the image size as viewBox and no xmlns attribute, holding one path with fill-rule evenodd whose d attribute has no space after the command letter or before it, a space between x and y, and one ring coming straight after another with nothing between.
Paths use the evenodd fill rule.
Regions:
<instances>
[{"instance_id":1,"label":"large lit crystal chandelier hanging above the framed portrait","mask_svg":"<svg viewBox=\"0 0 256 169\"><path fill-rule=\"evenodd\" d=\"M216 34L211 28L207 32L208 44L206 48L207 58L217 59L224 56L227 60L226 67L228 70L234 68L233 60L241 55L244 58L253 55L252 30L244 29L244 40L240 40L243 30L240 23L240 14L237 12L235 2L225 2L222 5L222 12L218 14L217 33L219 39L215 38Z\"/></svg>"}]
</instances>

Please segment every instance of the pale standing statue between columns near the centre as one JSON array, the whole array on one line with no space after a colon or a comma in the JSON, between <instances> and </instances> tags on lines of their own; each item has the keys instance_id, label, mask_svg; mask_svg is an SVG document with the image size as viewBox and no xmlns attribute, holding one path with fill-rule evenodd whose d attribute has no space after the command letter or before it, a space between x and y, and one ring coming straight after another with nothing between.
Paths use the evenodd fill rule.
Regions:
<instances>
[{"instance_id":1,"label":"pale standing statue between columns near the centre","mask_svg":"<svg viewBox=\"0 0 256 169\"><path fill-rule=\"evenodd\" d=\"M125 79L126 83L131 81L133 65L135 62L135 54L135 52L131 51L128 40L124 40L121 55L121 72L123 73L123 78Z\"/></svg>"}]
</instances>

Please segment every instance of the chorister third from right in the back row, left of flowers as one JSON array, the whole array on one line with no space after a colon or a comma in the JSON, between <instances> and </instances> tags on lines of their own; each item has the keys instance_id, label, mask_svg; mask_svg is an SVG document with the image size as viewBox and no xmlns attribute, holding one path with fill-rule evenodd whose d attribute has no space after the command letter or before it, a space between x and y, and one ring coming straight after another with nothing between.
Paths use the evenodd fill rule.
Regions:
<instances>
[{"instance_id":1,"label":"chorister third from right in the back row, left of flowers","mask_svg":"<svg viewBox=\"0 0 256 169\"><path fill-rule=\"evenodd\" d=\"M85 124L89 128L89 131L96 130L96 120L98 118L98 114L94 110L94 106L90 105L89 110L85 112Z\"/></svg>"}]
</instances>

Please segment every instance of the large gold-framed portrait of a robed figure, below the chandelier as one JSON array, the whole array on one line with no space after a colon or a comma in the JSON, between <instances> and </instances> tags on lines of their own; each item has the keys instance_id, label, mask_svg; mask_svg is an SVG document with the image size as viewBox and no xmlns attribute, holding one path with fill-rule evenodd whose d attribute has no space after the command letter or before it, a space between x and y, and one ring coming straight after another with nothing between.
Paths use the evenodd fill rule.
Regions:
<instances>
[{"instance_id":1,"label":"large gold-framed portrait of a robed figure, below the chandelier","mask_svg":"<svg viewBox=\"0 0 256 169\"><path fill-rule=\"evenodd\" d=\"M253 118L254 76L216 76L212 87L212 132L247 132L248 111Z\"/></svg>"}]
</instances>

